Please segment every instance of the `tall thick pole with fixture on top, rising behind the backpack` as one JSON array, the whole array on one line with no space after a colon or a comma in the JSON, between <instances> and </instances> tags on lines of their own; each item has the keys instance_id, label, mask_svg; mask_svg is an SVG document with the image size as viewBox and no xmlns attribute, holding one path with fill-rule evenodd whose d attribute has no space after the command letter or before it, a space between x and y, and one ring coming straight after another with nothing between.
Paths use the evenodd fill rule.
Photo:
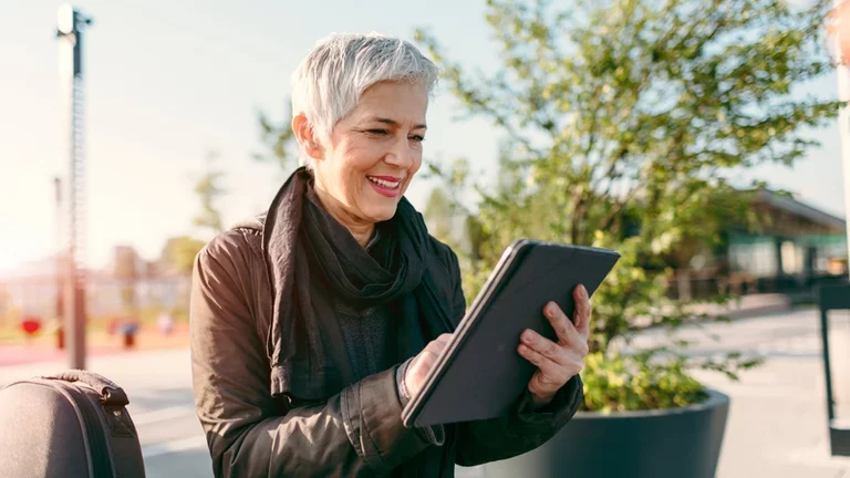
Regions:
<instances>
[{"instance_id":1,"label":"tall thick pole with fixture on top, rising behind the backpack","mask_svg":"<svg viewBox=\"0 0 850 478\"><path fill-rule=\"evenodd\" d=\"M68 254L64 319L69 365L85 368L85 196L83 142L83 30L92 19L70 4L59 9L60 75L70 89L70 164L68 175Z\"/></svg>"}]
</instances>

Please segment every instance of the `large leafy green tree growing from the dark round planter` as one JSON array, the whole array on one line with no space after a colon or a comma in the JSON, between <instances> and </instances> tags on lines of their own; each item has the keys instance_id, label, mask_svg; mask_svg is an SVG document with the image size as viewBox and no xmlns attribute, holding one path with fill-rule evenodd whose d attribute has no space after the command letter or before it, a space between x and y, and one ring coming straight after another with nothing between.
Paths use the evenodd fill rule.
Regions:
<instances>
[{"instance_id":1,"label":"large leafy green tree growing from the dark round planter","mask_svg":"<svg viewBox=\"0 0 850 478\"><path fill-rule=\"evenodd\" d=\"M792 165L817 145L805 128L837 116L838 102L797 94L832 67L822 29L829 2L550 3L487 2L496 74L468 72L416 31L452 94L506 138L498 184L473 185L480 260L466 273L467 297L518 237L615 249L620 263L593 298L583 406L693 403L703 392L691 367L734 378L757 361L695 362L675 340L624 354L618 340L630 343L640 324L675 329L694 319L691 303L667 298L671 261L694 241L714 243L721 216L746 224L737 174Z\"/></svg>"}]
</instances>

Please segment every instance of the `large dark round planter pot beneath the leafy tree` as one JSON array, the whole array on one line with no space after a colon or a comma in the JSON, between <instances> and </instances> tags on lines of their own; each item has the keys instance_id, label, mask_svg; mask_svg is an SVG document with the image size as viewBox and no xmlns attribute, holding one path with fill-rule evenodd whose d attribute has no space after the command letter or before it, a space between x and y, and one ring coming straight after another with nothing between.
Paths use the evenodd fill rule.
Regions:
<instances>
[{"instance_id":1,"label":"large dark round planter pot beneath the leafy tree","mask_svg":"<svg viewBox=\"0 0 850 478\"><path fill-rule=\"evenodd\" d=\"M707 392L705 402L682 408L577 413L541 447L485 465L485 476L712 478L729 397Z\"/></svg>"}]
</instances>

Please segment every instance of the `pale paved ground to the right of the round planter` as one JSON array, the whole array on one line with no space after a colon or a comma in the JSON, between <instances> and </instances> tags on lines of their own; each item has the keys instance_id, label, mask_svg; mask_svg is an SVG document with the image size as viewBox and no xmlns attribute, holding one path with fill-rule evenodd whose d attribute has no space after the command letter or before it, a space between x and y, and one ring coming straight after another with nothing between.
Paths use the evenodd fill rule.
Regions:
<instances>
[{"instance_id":1,"label":"pale paved ground to the right of the round planter","mask_svg":"<svg viewBox=\"0 0 850 478\"><path fill-rule=\"evenodd\" d=\"M850 417L850 315L831 320L830 347L839 417ZM716 334L718 341L709 335ZM740 382L696 375L732 398L718 478L850 478L850 458L831 457L818 314L813 309L744 319L684 333L691 355L742 351L766 362ZM651 334L639 343L651 343Z\"/></svg>"}]
</instances>

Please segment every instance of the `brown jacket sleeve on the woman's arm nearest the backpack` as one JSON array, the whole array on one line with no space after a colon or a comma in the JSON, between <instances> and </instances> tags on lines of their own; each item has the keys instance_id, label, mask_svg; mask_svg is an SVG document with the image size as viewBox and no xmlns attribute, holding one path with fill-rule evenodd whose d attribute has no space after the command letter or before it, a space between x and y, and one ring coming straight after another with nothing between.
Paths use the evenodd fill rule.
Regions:
<instances>
[{"instance_id":1,"label":"brown jacket sleeve on the woman's arm nearest the backpack","mask_svg":"<svg viewBox=\"0 0 850 478\"><path fill-rule=\"evenodd\" d=\"M215 476L385 474L427 447L402 424L395 368L309 406L271 397L248 300L250 251L230 239L198 254L191 284L193 386Z\"/></svg>"}]
</instances>

